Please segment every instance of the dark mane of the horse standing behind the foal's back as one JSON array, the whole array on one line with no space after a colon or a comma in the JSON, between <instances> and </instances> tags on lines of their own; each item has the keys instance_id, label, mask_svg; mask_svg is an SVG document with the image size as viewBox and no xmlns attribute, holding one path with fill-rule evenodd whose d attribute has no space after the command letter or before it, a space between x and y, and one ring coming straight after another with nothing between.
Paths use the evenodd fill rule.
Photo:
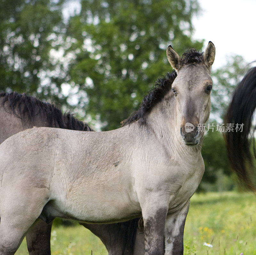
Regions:
<instances>
[{"instance_id":1,"label":"dark mane of the horse standing behind the foal's back","mask_svg":"<svg viewBox=\"0 0 256 255\"><path fill-rule=\"evenodd\" d=\"M19 94L17 92L1 92L0 97L3 98L1 106L7 111L4 104L8 102L12 113L23 122L26 120L26 116L28 116L29 121L31 121L34 120L35 116L38 114L44 113L48 127L93 131L86 123L73 117L71 113L63 114L54 104L43 102L35 97Z\"/></svg>"}]
</instances>

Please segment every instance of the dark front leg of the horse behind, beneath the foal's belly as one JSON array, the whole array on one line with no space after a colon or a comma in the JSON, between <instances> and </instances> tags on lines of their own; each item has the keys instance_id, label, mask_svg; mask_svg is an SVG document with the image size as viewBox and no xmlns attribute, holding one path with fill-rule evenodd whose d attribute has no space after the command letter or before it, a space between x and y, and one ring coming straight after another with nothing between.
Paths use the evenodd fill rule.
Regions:
<instances>
[{"instance_id":1,"label":"dark front leg of the horse behind, beneath the foal's belly","mask_svg":"<svg viewBox=\"0 0 256 255\"><path fill-rule=\"evenodd\" d=\"M138 240L136 237L138 222L139 218L113 224L80 224L88 228L94 235L100 238L109 255L132 255L135 254L133 253L134 246L137 246L137 252L140 252L137 254L143 254L145 252L144 236L143 239ZM139 242L142 242L142 244ZM143 249L139 250L139 247L141 246Z\"/></svg>"}]
</instances>

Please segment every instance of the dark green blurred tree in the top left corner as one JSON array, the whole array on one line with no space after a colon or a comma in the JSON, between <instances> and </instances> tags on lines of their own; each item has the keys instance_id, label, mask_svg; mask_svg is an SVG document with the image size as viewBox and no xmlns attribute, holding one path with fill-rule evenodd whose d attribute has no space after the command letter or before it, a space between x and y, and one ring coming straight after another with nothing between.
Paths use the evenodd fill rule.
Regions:
<instances>
[{"instance_id":1,"label":"dark green blurred tree in the top left corner","mask_svg":"<svg viewBox=\"0 0 256 255\"><path fill-rule=\"evenodd\" d=\"M64 68L50 54L63 44L62 5L63 0L0 1L0 90L64 98Z\"/></svg>"}]
</instances>

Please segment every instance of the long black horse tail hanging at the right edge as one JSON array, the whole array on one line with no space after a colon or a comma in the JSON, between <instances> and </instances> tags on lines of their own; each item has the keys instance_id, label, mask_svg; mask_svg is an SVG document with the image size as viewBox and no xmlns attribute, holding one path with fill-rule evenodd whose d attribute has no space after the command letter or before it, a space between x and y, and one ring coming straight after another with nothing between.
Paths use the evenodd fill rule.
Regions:
<instances>
[{"instance_id":1,"label":"long black horse tail hanging at the right edge","mask_svg":"<svg viewBox=\"0 0 256 255\"><path fill-rule=\"evenodd\" d=\"M256 67L252 68L237 85L225 116L225 122L235 124L240 130L225 132L228 159L239 180L253 191L251 169L256 158L252 121L256 108ZM256 129L256 126L253 130ZM253 144L253 150L251 145Z\"/></svg>"}]
</instances>

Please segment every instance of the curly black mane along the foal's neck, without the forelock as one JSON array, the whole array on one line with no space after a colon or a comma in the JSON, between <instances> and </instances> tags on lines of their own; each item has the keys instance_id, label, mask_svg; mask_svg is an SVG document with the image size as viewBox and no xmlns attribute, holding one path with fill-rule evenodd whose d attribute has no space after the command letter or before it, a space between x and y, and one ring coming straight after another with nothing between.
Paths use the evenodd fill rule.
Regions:
<instances>
[{"instance_id":1,"label":"curly black mane along the foal's neck, without the forelock","mask_svg":"<svg viewBox=\"0 0 256 255\"><path fill-rule=\"evenodd\" d=\"M140 124L143 124L145 122L145 114L148 113L170 91L176 76L176 71L173 71L172 73L167 73L162 78L157 79L154 88L142 99L139 109L133 112L128 119L123 120L121 122L122 126L127 124L130 125L137 120L140 120Z\"/></svg>"}]
</instances>

